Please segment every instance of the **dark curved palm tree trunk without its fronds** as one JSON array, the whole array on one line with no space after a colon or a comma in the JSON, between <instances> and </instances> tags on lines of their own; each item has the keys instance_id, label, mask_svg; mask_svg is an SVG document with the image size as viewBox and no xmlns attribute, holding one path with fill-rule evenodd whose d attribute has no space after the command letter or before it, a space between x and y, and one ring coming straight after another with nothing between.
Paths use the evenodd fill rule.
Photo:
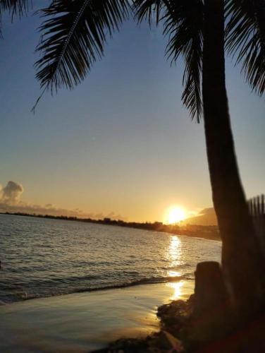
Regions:
<instances>
[{"instance_id":1,"label":"dark curved palm tree trunk without its fronds","mask_svg":"<svg viewBox=\"0 0 265 353\"><path fill-rule=\"evenodd\" d=\"M264 259L248 213L230 126L223 0L204 1L202 72L204 129L212 197L223 241L223 272L237 309L253 309L264 297Z\"/></svg>"}]
</instances>

